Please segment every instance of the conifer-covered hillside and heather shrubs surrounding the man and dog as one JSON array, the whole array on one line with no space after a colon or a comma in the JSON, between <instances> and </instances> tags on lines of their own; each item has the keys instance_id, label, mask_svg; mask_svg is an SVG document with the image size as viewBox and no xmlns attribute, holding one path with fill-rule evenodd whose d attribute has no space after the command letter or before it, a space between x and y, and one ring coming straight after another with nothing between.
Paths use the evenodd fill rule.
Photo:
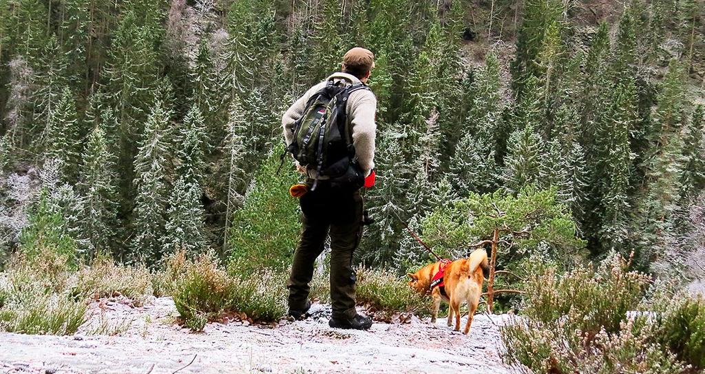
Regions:
<instances>
[{"instance_id":1,"label":"conifer-covered hillside and heather shrubs surrounding the man and dog","mask_svg":"<svg viewBox=\"0 0 705 374\"><path fill-rule=\"evenodd\" d=\"M278 324L302 180L281 116L355 46L378 102L360 308L427 317L405 225L444 258L494 237L482 312L524 318L495 326L506 363L705 368L703 0L0 0L0 330L145 295L196 331Z\"/></svg>"}]
</instances>

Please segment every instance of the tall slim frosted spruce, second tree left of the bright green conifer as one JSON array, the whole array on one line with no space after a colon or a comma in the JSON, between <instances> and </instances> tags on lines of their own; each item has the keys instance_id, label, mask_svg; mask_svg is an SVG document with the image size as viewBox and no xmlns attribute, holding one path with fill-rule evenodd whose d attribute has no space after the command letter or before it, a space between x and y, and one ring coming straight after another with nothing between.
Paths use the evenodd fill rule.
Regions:
<instances>
[{"instance_id":1,"label":"tall slim frosted spruce, second tree left of the bright green conifer","mask_svg":"<svg viewBox=\"0 0 705 374\"><path fill-rule=\"evenodd\" d=\"M161 258L161 239L166 224L168 181L165 167L170 154L166 129L169 117L171 112L157 102L145 124L145 135L135 157L137 198L132 256L152 260L152 263Z\"/></svg>"}]
</instances>

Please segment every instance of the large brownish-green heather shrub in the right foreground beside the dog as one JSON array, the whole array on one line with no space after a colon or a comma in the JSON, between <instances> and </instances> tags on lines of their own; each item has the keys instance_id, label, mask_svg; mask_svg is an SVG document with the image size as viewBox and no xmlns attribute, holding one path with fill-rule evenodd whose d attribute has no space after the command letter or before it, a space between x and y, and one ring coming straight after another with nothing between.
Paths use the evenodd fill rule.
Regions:
<instances>
[{"instance_id":1,"label":"large brownish-green heather shrub in the right foreground beside the dog","mask_svg":"<svg viewBox=\"0 0 705 374\"><path fill-rule=\"evenodd\" d=\"M683 373L660 344L653 313L639 310L649 278L609 256L596 271L554 267L524 284L522 317L501 327L505 361L530 373Z\"/></svg>"}]
</instances>

